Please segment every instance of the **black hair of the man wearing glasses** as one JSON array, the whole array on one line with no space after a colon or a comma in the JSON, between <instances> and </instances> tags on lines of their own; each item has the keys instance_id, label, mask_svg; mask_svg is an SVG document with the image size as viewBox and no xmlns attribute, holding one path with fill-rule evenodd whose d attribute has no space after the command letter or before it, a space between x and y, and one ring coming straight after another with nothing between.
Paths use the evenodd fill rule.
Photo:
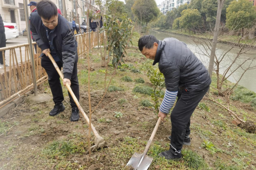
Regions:
<instances>
[{"instance_id":1,"label":"black hair of the man wearing glasses","mask_svg":"<svg viewBox=\"0 0 256 170\"><path fill-rule=\"evenodd\" d=\"M37 13L43 19L50 20L58 14L56 5L50 0L43 0L37 4Z\"/></svg>"}]
</instances>

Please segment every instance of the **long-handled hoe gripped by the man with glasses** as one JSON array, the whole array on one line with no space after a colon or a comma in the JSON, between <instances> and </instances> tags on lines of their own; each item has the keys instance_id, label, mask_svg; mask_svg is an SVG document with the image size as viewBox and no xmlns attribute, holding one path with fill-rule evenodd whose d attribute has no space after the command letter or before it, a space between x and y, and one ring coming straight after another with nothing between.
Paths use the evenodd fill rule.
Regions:
<instances>
[{"instance_id":1,"label":"long-handled hoe gripped by the man with glasses","mask_svg":"<svg viewBox=\"0 0 256 170\"><path fill-rule=\"evenodd\" d=\"M56 71L58 72L60 78L63 80L63 79L64 79L63 74L62 74L61 71L59 70L59 68L58 68L58 66L57 66L57 64L56 64L56 62L55 62L55 60L53 59L53 57L51 56L51 54L50 54L49 52L47 52L47 55L48 55L48 57L50 58L50 60L52 61L52 63L53 63L53 65L54 65ZM85 118L85 120L86 120L86 123L89 125L89 118L88 118L88 116L85 114L85 111L83 110L83 108L81 107L81 105L79 104L79 101L78 101L78 99L75 97L75 94L73 93L73 91L72 91L70 85L69 85L69 84L66 84L66 87L67 87L67 89L69 90L69 92L70 92L72 98L74 99L75 104L76 104L76 106L78 107L79 111L80 111L80 112L82 113L82 115L84 116L84 118ZM94 141L95 145L91 147L92 151L94 151L96 148L98 149L98 148L104 147L105 142L104 142L104 139L99 135L99 133L96 131L96 129L94 128L94 126L93 126L92 124L91 124L91 128L92 128L93 134L94 134L94 136L95 136L95 141ZM88 151L87 151L87 152L88 152Z\"/></svg>"}]
</instances>

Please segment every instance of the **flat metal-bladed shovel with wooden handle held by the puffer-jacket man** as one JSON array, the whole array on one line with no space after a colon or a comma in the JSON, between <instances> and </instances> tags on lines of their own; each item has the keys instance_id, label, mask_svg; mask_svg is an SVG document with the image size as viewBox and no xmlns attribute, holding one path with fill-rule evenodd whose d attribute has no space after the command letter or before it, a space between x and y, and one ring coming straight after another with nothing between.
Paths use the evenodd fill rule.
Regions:
<instances>
[{"instance_id":1,"label":"flat metal-bladed shovel with wooden handle held by the puffer-jacket man","mask_svg":"<svg viewBox=\"0 0 256 170\"><path fill-rule=\"evenodd\" d=\"M145 147L143 154L138 154L135 152L131 156L131 158L126 166L131 166L132 168L134 168L134 170L147 170L149 168L149 166L153 160L153 157L146 156L146 154L147 154L147 152L150 148L150 145L156 135L156 131L157 131L160 123L161 123L161 117L159 117L156 122L156 126L147 142L147 145Z\"/></svg>"}]
</instances>

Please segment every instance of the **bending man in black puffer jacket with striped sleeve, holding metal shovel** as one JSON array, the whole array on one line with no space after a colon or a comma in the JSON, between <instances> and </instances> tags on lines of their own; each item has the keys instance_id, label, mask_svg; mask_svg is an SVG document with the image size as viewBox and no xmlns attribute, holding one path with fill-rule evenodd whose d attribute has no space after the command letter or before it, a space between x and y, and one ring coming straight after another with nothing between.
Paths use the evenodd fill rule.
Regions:
<instances>
[{"instance_id":1,"label":"bending man in black puffer jacket with striped sleeve, holding metal shovel","mask_svg":"<svg viewBox=\"0 0 256 170\"><path fill-rule=\"evenodd\" d=\"M183 144L190 145L190 117L209 89L211 78L202 62L177 39L158 41L152 35L145 35L139 40L139 49L145 57L154 60L153 65L158 63L165 77L166 91L158 113L162 120L178 97L171 112L170 149L158 156L179 159Z\"/></svg>"}]
</instances>

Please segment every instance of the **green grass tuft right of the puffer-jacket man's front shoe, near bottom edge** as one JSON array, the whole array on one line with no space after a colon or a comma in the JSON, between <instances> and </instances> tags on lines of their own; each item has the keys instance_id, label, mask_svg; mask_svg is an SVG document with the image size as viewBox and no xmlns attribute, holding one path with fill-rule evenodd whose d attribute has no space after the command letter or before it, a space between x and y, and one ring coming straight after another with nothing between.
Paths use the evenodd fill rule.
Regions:
<instances>
[{"instance_id":1,"label":"green grass tuft right of the puffer-jacket man's front shoe, near bottom edge","mask_svg":"<svg viewBox=\"0 0 256 170\"><path fill-rule=\"evenodd\" d=\"M194 170L205 170L208 165L204 161L204 159L199 156L197 153L184 149L182 150L183 160L185 161L185 164Z\"/></svg>"}]
</instances>

